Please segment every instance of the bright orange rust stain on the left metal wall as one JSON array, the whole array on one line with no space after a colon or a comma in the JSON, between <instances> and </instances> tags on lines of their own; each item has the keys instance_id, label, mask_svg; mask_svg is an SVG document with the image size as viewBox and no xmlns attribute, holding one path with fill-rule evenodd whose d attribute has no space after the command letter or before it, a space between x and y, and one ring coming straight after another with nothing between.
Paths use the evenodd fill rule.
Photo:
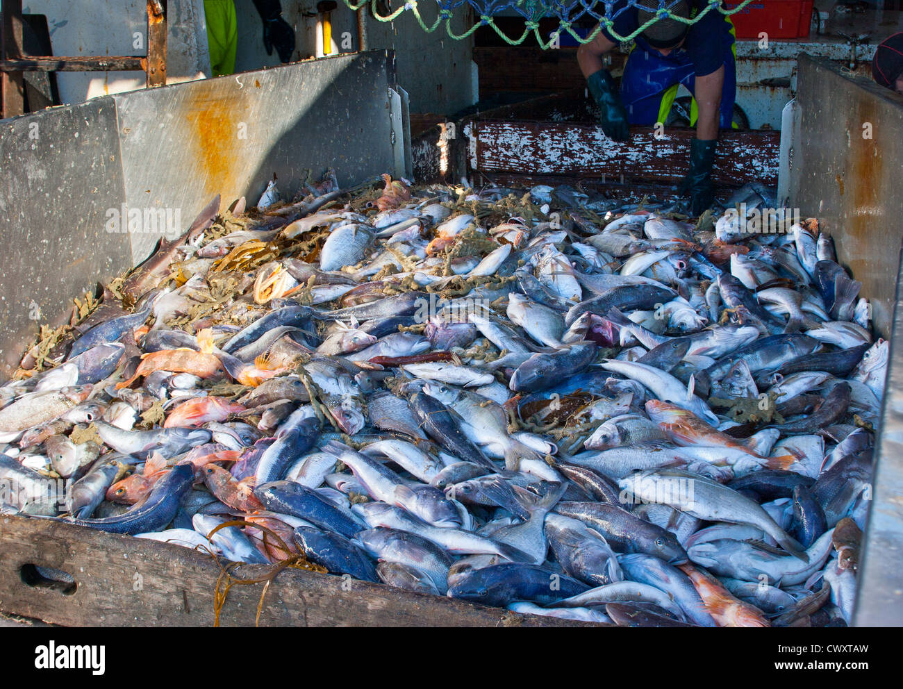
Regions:
<instances>
[{"instance_id":1,"label":"bright orange rust stain on the left metal wall","mask_svg":"<svg viewBox=\"0 0 903 689\"><path fill-rule=\"evenodd\" d=\"M203 89L192 92L185 104L185 117L200 165L199 182L208 198L238 189L237 175L242 168L238 160L239 127L247 126L242 124L247 116L241 106L240 97L224 101Z\"/></svg>"}]
</instances>

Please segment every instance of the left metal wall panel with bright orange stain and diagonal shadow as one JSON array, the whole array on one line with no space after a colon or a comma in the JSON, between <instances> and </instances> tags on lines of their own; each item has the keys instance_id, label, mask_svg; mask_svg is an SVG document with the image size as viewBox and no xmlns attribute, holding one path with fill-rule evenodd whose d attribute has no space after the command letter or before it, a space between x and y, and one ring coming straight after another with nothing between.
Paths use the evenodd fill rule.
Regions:
<instances>
[{"instance_id":1,"label":"left metal wall panel with bright orange stain and diagonal shadow","mask_svg":"<svg viewBox=\"0 0 903 689\"><path fill-rule=\"evenodd\" d=\"M256 204L274 174L290 199L329 166L340 184L396 172L394 82L392 57L369 51L116 95L126 203L187 228L218 193ZM135 262L162 235L133 233Z\"/></svg>"}]
</instances>

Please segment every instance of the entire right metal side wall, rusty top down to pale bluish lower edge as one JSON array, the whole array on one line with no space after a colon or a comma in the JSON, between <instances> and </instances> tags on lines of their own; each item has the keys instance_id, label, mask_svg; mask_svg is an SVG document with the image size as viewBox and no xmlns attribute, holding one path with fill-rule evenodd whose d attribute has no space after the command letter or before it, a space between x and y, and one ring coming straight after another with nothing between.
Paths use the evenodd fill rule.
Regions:
<instances>
[{"instance_id":1,"label":"entire right metal side wall, rusty top down to pale bluish lower edge","mask_svg":"<svg viewBox=\"0 0 903 689\"><path fill-rule=\"evenodd\" d=\"M791 204L822 220L862 282L876 331L890 337L889 377L854 622L903 620L903 97L802 56Z\"/></svg>"}]
</instances>

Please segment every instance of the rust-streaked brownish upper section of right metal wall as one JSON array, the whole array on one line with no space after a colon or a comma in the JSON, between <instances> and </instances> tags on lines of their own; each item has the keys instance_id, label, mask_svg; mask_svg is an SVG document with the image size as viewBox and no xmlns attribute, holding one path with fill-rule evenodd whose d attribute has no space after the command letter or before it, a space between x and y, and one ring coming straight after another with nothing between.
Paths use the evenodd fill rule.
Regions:
<instances>
[{"instance_id":1,"label":"rust-streaked brownish upper section of right metal wall","mask_svg":"<svg viewBox=\"0 0 903 689\"><path fill-rule=\"evenodd\" d=\"M807 55L798 88L791 201L838 239L841 263L861 281L874 327L887 335L903 239L903 98Z\"/></svg>"}]
</instances>

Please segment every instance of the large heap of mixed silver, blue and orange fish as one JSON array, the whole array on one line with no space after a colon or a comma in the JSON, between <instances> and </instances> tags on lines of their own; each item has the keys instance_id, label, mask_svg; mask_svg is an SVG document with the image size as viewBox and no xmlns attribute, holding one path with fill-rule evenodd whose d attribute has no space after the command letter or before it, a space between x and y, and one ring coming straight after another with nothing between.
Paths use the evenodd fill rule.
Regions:
<instances>
[{"instance_id":1,"label":"large heap of mixed silver, blue and orange fish","mask_svg":"<svg viewBox=\"0 0 903 689\"><path fill-rule=\"evenodd\" d=\"M384 177L217 198L30 350L3 510L566 619L850 622L888 343L815 219Z\"/></svg>"}]
</instances>

